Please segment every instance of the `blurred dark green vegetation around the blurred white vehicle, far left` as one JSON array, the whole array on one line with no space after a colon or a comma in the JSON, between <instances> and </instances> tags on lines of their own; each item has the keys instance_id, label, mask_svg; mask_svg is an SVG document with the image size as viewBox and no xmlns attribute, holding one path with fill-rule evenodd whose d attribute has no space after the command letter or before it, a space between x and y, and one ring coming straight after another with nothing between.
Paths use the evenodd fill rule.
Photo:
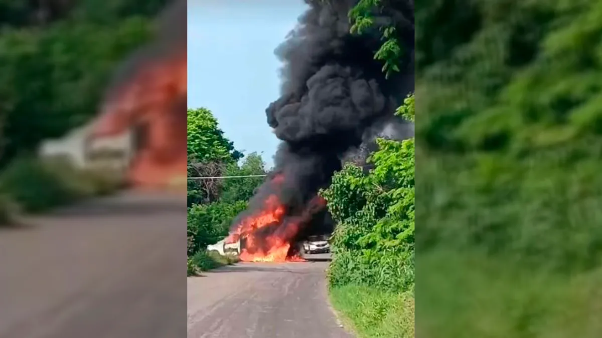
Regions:
<instances>
[{"instance_id":1,"label":"blurred dark green vegetation around the blurred white vehicle, far left","mask_svg":"<svg viewBox=\"0 0 602 338\"><path fill-rule=\"evenodd\" d=\"M119 186L114 173L37 149L96 115L115 67L148 41L166 2L0 1L0 225Z\"/></svg>"}]
</instances>

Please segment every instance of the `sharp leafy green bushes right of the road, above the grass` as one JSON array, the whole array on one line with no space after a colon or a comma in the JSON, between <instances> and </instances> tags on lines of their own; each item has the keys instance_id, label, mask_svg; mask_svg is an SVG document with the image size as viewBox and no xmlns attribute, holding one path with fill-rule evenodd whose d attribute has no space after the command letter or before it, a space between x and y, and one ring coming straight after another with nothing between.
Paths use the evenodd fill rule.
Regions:
<instances>
[{"instance_id":1,"label":"sharp leafy green bushes right of the road, above the grass","mask_svg":"<svg viewBox=\"0 0 602 338\"><path fill-rule=\"evenodd\" d=\"M400 112L413 106L408 97ZM414 284L414 140L378 144L370 174L347 164L321 191L337 222L331 286L409 290Z\"/></svg>"}]
</instances>

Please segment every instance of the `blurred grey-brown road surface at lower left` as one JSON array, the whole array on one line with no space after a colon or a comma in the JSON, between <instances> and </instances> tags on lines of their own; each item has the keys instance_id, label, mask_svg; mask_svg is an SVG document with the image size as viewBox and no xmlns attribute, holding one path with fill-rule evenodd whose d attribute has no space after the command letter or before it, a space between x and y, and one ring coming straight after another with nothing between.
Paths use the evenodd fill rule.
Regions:
<instances>
[{"instance_id":1,"label":"blurred grey-brown road surface at lower left","mask_svg":"<svg viewBox=\"0 0 602 338\"><path fill-rule=\"evenodd\" d=\"M0 230L0 338L185 337L185 196L132 192Z\"/></svg>"}]
</instances>

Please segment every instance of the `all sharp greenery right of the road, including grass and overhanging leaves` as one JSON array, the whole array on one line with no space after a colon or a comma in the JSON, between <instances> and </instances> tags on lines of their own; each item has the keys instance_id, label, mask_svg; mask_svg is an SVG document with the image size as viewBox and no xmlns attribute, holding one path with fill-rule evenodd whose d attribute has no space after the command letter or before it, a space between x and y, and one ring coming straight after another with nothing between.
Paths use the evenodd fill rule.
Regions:
<instances>
[{"instance_id":1,"label":"all sharp greenery right of the road, including grass and overhanging leaves","mask_svg":"<svg viewBox=\"0 0 602 338\"><path fill-rule=\"evenodd\" d=\"M371 25L373 1L350 12L361 32ZM377 2L376 5L381 5ZM394 34L383 36L376 59L384 72L397 72L400 48ZM414 96L397 114L414 121ZM366 174L355 164L336 173L321 191L337 223L328 269L330 300L359 337L414 337L414 139L378 140Z\"/></svg>"}]
</instances>

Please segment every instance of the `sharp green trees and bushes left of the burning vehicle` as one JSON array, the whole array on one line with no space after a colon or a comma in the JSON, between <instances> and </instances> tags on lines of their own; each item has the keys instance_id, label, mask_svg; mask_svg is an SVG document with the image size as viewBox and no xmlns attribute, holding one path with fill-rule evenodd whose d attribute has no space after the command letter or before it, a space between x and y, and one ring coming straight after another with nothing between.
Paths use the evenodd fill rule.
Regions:
<instances>
[{"instance_id":1,"label":"sharp green trees and bushes left of the burning vehicle","mask_svg":"<svg viewBox=\"0 0 602 338\"><path fill-rule=\"evenodd\" d=\"M205 108L188 109L188 177L221 177L266 174L261 155L243 153L219 128L216 118ZM229 227L262 177L188 180L188 275L229 265L237 260L207 252L228 235Z\"/></svg>"}]
</instances>

